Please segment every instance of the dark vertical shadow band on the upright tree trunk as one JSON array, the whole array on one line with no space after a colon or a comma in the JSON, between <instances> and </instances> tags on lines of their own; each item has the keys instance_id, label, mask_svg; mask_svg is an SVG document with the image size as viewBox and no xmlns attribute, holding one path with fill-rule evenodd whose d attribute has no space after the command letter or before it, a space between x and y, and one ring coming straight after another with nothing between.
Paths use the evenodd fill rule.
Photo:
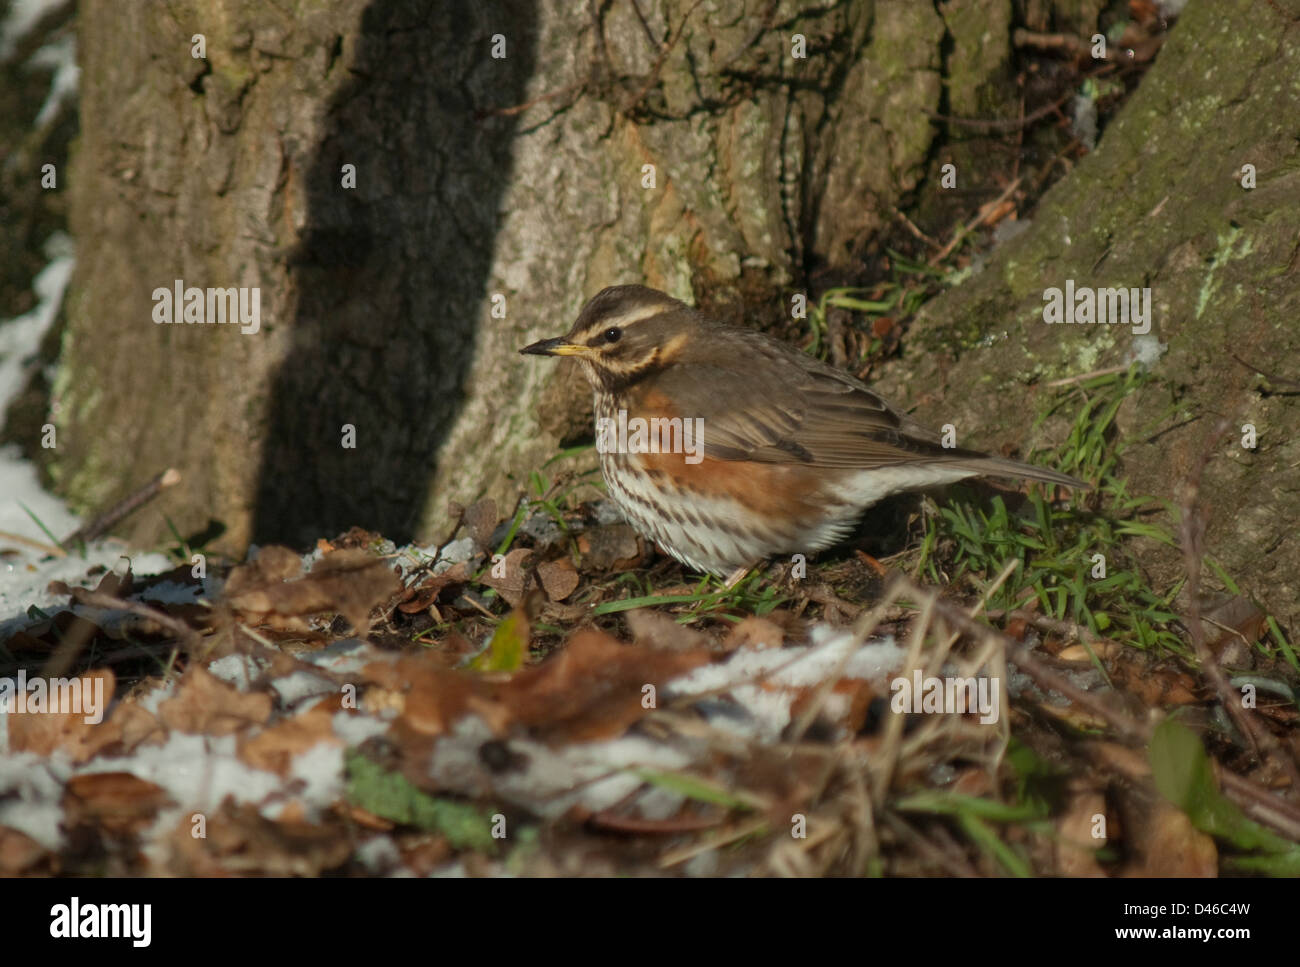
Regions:
<instances>
[{"instance_id":1,"label":"dark vertical shadow band on the upright tree trunk","mask_svg":"<svg viewBox=\"0 0 1300 967\"><path fill-rule=\"evenodd\" d=\"M495 34L504 58L490 53ZM308 179L308 211L286 255L298 304L255 541L304 545L352 525L413 535L460 409L511 178L516 122L484 114L525 100L534 43L530 0L432 12L376 0L355 52L329 52L352 78L325 109L312 169L281 170Z\"/></svg>"}]
</instances>

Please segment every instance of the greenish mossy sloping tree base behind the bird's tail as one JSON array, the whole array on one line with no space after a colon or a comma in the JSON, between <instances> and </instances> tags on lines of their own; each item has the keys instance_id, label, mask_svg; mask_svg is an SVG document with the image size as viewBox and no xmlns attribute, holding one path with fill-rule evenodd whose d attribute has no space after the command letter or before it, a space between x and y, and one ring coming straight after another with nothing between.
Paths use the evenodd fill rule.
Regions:
<instances>
[{"instance_id":1,"label":"greenish mossy sloping tree base behind the bird's tail","mask_svg":"<svg viewBox=\"0 0 1300 967\"><path fill-rule=\"evenodd\" d=\"M931 302L879 387L952 422L978 446L1024 438L1035 386L1122 363L1130 330L1049 326L1044 290L1149 286L1161 381L1121 411L1139 433L1170 406L1167 432L1127 451L1130 491L1176 503L1221 417L1201 500L1208 551L1284 624L1300 620L1300 4L1192 3L1160 60L1034 224L983 272ZM1258 185L1244 190L1243 165ZM959 347L956 352L950 347ZM1238 359L1234 359L1236 356ZM1258 447L1242 446L1253 424ZM968 430L968 432L966 432ZM1050 435L1060 428L1049 428ZM1157 581L1178 551L1152 547Z\"/></svg>"}]
</instances>

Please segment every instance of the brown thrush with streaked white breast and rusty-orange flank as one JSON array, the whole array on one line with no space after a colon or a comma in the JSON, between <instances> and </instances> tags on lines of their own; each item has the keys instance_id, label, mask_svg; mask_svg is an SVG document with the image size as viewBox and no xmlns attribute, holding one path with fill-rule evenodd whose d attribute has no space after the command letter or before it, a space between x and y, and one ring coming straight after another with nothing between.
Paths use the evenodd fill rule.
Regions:
<instances>
[{"instance_id":1,"label":"brown thrush with streaked white breast and rusty-orange flank","mask_svg":"<svg viewBox=\"0 0 1300 967\"><path fill-rule=\"evenodd\" d=\"M602 446L601 468L642 533L714 574L774 554L819 551L846 535L866 507L902 490L978 474L1088 486L945 448L848 373L645 286L604 289L566 335L520 352L577 359L595 391L598 428L616 426L620 411L628 425L698 421L702 446L672 438L688 452L646 452L632 434L602 437L618 446Z\"/></svg>"}]
</instances>

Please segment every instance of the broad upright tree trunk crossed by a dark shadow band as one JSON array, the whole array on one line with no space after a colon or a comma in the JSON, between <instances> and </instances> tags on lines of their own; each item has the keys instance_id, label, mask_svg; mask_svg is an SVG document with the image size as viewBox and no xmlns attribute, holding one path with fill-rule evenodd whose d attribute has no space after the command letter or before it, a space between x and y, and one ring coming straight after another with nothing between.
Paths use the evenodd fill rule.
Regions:
<instances>
[{"instance_id":1,"label":"broad upright tree trunk crossed by a dark shadow band","mask_svg":"<svg viewBox=\"0 0 1300 967\"><path fill-rule=\"evenodd\" d=\"M589 406L519 346L610 283L770 322L850 272L924 177L945 44L984 43L958 14L1010 0L595 6L87 0L65 493L178 465L129 535L211 517L229 548L429 535L450 499L512 496ZM1005 86L1000 49L962 84ZM155 325L177 278L260 286L261 331Z\"/></svg>"}]
</instances>

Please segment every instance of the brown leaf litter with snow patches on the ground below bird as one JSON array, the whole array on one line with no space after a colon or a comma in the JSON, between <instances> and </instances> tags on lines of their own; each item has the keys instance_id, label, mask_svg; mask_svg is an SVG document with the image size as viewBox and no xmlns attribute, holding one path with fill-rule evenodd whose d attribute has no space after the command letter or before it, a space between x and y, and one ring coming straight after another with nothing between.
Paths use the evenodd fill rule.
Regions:
<instances>
[{"instance_id":1,"label":"brown leaf litter with snow patches on the ground below bird","mask_svg":"<svg viewBox=\"0 0 1300 967\"><path fill-rule=\"evenodd\" d=\"M1032 613L994 628L992 589L866 555L724 589L606 507L454 516L439 546L354 529L216 580L58 586L6 673L57 659L107 710L0 714L0 872L1296 868L1279 776L1187 663ZM1201 620L1218 652L1264 633L1239 595ZM936 676L1005 685L1000 714L892 710ZM1294 747L1290 686L1251 681ZM1183 721L1245 779L1221 789Z\"/></svg>"}]
</instances>

